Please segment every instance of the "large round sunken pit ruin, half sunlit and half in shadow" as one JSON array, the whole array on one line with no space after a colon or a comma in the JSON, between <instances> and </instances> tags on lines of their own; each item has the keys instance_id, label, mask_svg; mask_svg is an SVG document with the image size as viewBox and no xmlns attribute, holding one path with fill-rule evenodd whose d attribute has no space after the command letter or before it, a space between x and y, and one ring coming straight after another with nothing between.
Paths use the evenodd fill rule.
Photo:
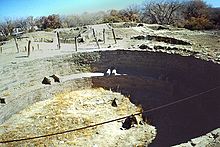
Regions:
<instances>
[{"instance_id":1,"label":"large round sunken pit ruin, half sunlit and half in shadow","mask_svg":"<svg viewBox=\"0 0 220 147\"><path fill-rule=\"evenodd\" d=\"M82 43L77 52L39 58L36 51L36 56L31 52L30 58L2 63L0 145L215 142L220 127L219 54L193 50L200 46L192 40L158 35L186 30L154 27L115 27L118 46L112 40L104 48L100 43L100 49L80 50ZM130 40L127 48L123 29ZM192 139L207 133L209 139Z\"/></svg>"}]
</instances>

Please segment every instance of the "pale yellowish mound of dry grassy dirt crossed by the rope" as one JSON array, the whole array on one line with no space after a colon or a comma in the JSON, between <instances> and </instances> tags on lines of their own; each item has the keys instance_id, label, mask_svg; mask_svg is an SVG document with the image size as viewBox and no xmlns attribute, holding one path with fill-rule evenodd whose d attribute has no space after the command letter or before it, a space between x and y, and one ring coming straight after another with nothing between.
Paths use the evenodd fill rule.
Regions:
<instances>
[{"instance_id":1,"label":"pale yellowish mound of dry grassy dirt crossed by the rope","mask_svg":"<svg viewBox=\"0 0 220 147\"><path fill-rule=\"evenodd\" d=\"M112 106L114 98L117 107ZM27 138L76 129L140 112L120 93L104 89L87 89L57 95L38 102L0 125L1 140ZM5 146L137 146L148 145L155 128L135 116L138 124L122 129L124 120L36 140L8 143ZM140 124L139 124L140 122ZM1 144L0 144L1 145ZM1 145L4 146L4 145Z\"/></svg>"}]
</instances>

